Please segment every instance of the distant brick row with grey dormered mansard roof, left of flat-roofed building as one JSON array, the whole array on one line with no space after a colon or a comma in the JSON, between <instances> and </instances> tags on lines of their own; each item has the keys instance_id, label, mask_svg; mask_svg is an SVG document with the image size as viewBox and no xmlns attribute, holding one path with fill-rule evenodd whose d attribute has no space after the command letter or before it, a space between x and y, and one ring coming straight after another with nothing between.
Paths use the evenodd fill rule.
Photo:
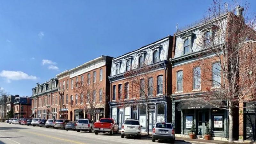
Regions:
<instances>
[{"instance_id":1,"label":"distant brick row with grey dormered mansard roof, left of flat-roofed building","mask_svg":"<svg viewBox=\"0 0 256 144\"><path fill-rule=\"evenodd\" d=\"M52 78L43 84L37 83L32 88L32 115L43 119L57 119L57 110L60 107L58 97L58 80Z\"/></svg>"}]
</instances>

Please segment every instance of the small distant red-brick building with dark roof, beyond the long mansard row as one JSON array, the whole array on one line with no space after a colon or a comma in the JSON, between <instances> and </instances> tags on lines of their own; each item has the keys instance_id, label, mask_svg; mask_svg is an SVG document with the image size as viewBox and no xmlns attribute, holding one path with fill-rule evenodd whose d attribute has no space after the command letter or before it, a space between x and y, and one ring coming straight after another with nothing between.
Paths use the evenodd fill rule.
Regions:
<instances>
[{"instance_id":1,"label":"small distant red-brick building with dark roof, beyond the long mansard row","mask_svg":"<svg viewBox=\"0 0 256 144\"><path fill-rule=\"evenodd\" d=\"M31 98L29 97L16 97L13 103L14 118L30 118L31 111Z\"/></svg>"}]
</instances>

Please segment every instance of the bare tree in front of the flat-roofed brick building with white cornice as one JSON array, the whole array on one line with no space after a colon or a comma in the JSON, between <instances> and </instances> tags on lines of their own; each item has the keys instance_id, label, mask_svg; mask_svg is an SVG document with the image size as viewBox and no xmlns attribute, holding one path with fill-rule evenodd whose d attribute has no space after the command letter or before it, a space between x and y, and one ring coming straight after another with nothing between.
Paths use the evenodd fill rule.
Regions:
<instances>
[{"instance_id":1,"label":"bare tree in front of the flat-roofed brick building with white cornice","mask_svg":"<svg viewBox=\"0 0 256 144\"><path fill-rule=\"evenodd\" d=\"M104 87L94 81L93 78L84 78L82 81L77 82L73 92L75 95L73 95L74 100L71 106L90 113L90 117L93 120L96 120L96 113L100 112L100 109L104 108L105 110L106 99L109 96L105 94Z\"/></svg>"}]
</instances>

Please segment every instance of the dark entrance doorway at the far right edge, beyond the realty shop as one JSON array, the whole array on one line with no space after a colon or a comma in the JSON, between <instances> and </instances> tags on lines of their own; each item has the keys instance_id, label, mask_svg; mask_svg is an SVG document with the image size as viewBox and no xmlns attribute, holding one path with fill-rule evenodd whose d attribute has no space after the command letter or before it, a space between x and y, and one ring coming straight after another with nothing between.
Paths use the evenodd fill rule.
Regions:
<instances>
[{"instance_id":1,"label":"dark entrance doorway at the far right edge, beyond the realty shop","mask_svg":"<svg viewBox=\"0 0 256 144\"><path fill-rule=\"evenodd\" d=\"M245 134L246 140L255 141L255 113L245 113Z\"/></svg>"}]
</instances>

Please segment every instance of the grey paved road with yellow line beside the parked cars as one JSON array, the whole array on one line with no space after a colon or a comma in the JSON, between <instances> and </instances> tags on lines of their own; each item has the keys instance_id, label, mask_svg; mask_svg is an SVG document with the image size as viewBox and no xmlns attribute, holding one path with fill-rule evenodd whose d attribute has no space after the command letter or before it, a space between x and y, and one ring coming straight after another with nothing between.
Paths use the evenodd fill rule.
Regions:
<instances>
[{"instance_id":1,"label":"grey paved road with yellow line beside the parked cars","mask_svg":"<svg viewBox=\"0 0 256 144\"><path fill-rule=\"evenodd\" d=\"M66 131L63 129L32 127L19 124L0 123L0 144L153 144L151 138L121 138L119 134L95 135L93 132ZM157 143L157 142L155 142ZM166 143L159 141L158 143ZM188 144L176 141L177 144Z\"/></svg>"}]
</instances>

